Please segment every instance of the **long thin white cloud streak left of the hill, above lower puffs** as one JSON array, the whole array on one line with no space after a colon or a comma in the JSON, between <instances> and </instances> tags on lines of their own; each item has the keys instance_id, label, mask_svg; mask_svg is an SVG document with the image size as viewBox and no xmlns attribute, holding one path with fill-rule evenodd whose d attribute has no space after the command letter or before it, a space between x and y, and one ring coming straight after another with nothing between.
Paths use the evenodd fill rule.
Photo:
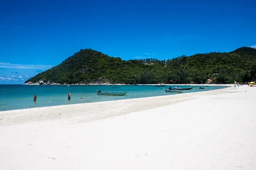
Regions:
<instances>
[{"instance_id":1,"label":"long thin white cloud streak left of the hill, above lower puffs","mask_svg":"<svg viewBox=\"0 0 256 170\"><path fill-rule=\"evenodd\" d=\"M26 65L26 64L11 64L9 62L0 62L0 68L20 68L20 69L48 69L52 65Z\"/></svg>"}]
</instances>

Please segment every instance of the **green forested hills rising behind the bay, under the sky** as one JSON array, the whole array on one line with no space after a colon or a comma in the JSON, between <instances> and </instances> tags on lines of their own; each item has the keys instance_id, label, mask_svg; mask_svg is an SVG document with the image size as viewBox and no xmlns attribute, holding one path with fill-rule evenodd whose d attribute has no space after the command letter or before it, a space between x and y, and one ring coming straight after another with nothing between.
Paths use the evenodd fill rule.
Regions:
<instances>
[{"instance_id":1,"label":"green forested hills rising behind the bay, under the sky","mask_svg":"<svg viewBox=\"0 0 256 170\"><path fill-rule=\"evenodd\" d=\"M27 82L51 80L75 83L215 83L248 82L256 79L256 49L238 48L229 53L211 52L168 60L141 59L124 61L92 49L84 49L61 64Z\"/></svg>"}]
</instances>

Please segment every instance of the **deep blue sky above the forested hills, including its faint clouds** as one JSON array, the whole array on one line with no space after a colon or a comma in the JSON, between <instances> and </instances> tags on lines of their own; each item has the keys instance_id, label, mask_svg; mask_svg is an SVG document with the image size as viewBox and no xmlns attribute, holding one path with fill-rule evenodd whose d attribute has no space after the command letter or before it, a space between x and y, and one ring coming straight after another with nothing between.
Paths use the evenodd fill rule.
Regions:
<instances>
[{"instance_id":1,"label":"deep blue sky above the forested hills, including its faint clouds","mask_svg":"<svg viewBox=\"0 0 256 170\"><path fill-rule=\"evenodd\" d=\"M0 84L23 84L81 48L124 60L256 48L255 6L255 0L3 0Z\"/></svg>"}]
</instances>

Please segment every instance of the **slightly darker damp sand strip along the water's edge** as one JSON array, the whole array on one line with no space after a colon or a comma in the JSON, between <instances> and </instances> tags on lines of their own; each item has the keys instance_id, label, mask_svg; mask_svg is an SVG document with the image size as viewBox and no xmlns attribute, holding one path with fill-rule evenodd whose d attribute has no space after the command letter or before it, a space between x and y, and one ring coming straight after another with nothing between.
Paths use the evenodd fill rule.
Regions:
<instances>
[{"instance_id":1,"label":"slightly darker damp sand strip along the water's edge","mask_svg":"<svg viewBox=\"0 0 256 170\"><path fill-rule=\"evenodd\" d=\"M92 114L94 112L100 113L102 109L115 109L120 106L123 108L122 114L131 113L134 111L143 111L147 110L149 108L155 108L155 107L162 107L165 105L169 105L176 102L182 102L185 100L190 99L196 99L200 98L201 95L210 95L210 94L222 94L225 91L227 93L230 93L229 90L232 90L233 88L227 87L227 88L221 88L217 90L210 90L210 91L199 91L199 92L193 92L193 93L184 93L184 94L174 94L174 95L165 95L165 96L152 96L152 97L142 97L142 98L134 98L134 99L122 99L122 100L111 100L111 101L104 101L104 102L90 102L90 103L78 103L78 104L70 104L70 105L56 105L56 106L45 106L45 107L39 107L39 108L26 108L26 109L17 109L17 110L9 110L9 111L0 111L0 126L1 125L12 125L17 122L15 122L16 119L22 119L23 121L19 121L19 123L23 122L34 122L35 119L40 121L46 121L50 119L61 119L63 117L67 116L76 116L78 114L73 113L73 110L76 112L83 113L86 112L89 117L93 117ZM170 99L173 99L174 101L169 102ZM147 102L150 102L152 100L157 100L154 103L150 103L149 105ZM129 105L125 107L125 103L129 102ZM141 107L135 107L134 106L140 105ZM131 109L129 109L132 107ZM88 111L88 109L90 111ZM55 110L55 114L52 114L52 110ZM99 116L99 119L105 119L108 117L111 117L111 115L104 115L105 111L102 111L101 115ZM113 116L120 115L120 112L113 113ZM23 118L21 118L23 117ZM90 121L96 121L99 120L97 118L92 118ZM9 120L6 122L6 120Z\"/></svg>"}]
</instances>

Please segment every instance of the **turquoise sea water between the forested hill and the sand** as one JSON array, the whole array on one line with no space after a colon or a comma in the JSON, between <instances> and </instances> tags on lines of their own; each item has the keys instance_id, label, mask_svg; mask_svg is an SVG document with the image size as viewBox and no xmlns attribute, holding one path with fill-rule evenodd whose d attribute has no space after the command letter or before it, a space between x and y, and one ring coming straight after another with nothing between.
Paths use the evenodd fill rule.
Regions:
<instances>
[{"instance_id":1,"label":"turquoise sea water between the forested hill and the sand","mask_svg":"<svg viewBox=\"0 0 256 170\"><path fill-rule=\"evenodd\" d=\"M155 87L154 85L0 85L0 111L174 95L174 93L165 92L165 89L170 86L175 87L176 85L167 85L163 87L164 89L160 89L160 87ZM193 86L181 87L189 88ZM199 87L204 87L205 89L199 89ZM220 88L225 88L225 86L195 86L195 88L183 91L183 93L209 91ZM97 95L97 90L101 90L102 92L129 92L125 96L100 96ZM71 100L67 99L68 92L71 93ZM34 94L37 96L36 102L33 101Z\"/></svg>"}]
</instances>

